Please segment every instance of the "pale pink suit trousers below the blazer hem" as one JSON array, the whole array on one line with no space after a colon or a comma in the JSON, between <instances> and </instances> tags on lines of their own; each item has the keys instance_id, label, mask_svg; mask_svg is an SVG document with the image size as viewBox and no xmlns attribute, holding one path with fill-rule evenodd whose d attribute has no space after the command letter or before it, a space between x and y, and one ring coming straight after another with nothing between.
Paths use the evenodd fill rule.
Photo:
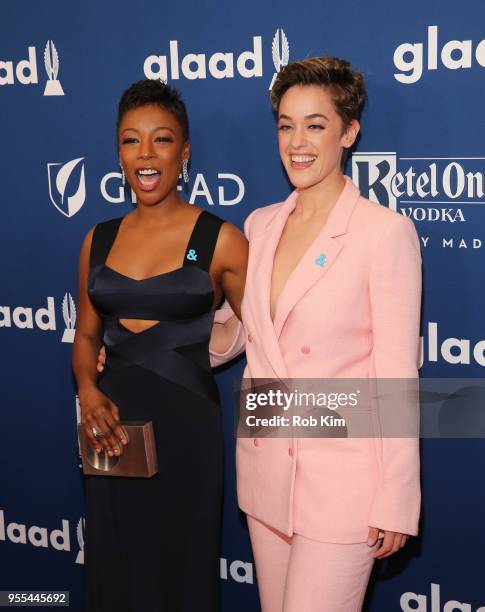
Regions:
<instances>
[{"instance_id":1,"label":"pale pink suit trousers below the blazer hem","mask_svg":"<svg viewBox=\"0 0 485 612\"><path fill-rule=\"evenodd\" d=\"M289 537L248 516L262 612L359 612L376 546Z\"/></svg>"}]
</instances>

